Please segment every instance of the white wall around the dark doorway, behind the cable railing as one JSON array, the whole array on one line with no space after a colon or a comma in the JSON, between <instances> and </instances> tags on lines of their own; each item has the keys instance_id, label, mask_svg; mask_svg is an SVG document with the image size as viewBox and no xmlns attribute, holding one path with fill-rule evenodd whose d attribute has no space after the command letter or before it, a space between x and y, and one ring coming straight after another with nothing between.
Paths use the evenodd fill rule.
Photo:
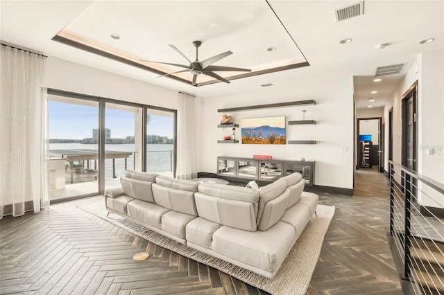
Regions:
<instances>
[{"instance_id":1,"label":"white wall around the dark doorway, behind the cable railing","mask_svg":"<svg viewBox=\"0 0 444 295\"><path fill-rule=\"evenodd\" d=\"M386 120L385 166L388 169L388 111L393 107L393 161L401 163L402 156L402 95L418 80L418 172L444 183L444 51L429 51L418 56L418 66L410 64L406 76L393 94L391 103L384 107ZM427 150L432 154L427 155ZM427 188L423 188L427 190ZM429 193L429 190L427 190ZM434 202L420 195L420 204L444 208L444 199ZM441 203L441 204L439 204Z\"/></svg>"}]
</instances>

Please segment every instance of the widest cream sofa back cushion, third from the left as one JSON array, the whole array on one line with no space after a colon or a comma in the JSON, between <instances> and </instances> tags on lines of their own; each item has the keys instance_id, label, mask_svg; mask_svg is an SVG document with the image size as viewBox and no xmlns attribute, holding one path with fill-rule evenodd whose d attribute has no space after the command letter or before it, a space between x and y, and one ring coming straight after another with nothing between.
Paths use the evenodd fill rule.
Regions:
<instances>
[{"instance_id":1,"label":"widest cream sofa back cushion, third from the left","mask_svg":"<svg viewBox=\"0 0 444 295\"><path fill-rule=\"evenodd\" d=\"M257 230L259 193L253 188L203 183L194 195L198 216L235 229Z\"/></svg>"}]
</instances>

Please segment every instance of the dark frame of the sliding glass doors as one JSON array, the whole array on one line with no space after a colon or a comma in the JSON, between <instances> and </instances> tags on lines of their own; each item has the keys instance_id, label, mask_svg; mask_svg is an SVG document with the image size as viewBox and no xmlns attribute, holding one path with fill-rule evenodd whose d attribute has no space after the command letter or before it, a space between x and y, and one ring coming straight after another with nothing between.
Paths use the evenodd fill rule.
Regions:
<instances>
[{"instance_id":1,"label":"dark frame of the sliding glass doors","mask_svg":"<svg viewBox=\"0 0 444 295\"><path fill-rule=\"evenodd\" d=\"M128 102L123 100L116 100L112 98L105 98L102 96L94 96L83 93L76 93L72 91L65 91L60 89L47 89L47 95L51 96L63 96L67 98L76 98L79 100L89 100L99 102L99 177L98 177L98 191L97 193L87 193L82 195L76 195L74 197L67 197L63 199L56 199L51 204L58 202L71 201L73 199L81 199L84 197L93 197L96 195L103 195L105 193L105 111L106 103L113 103L117 105L128 105L130 107L139 107L142 111L142 171L146 171L146 120L148 118L148 109L157 109L161 111L170 111L174 116L174 131L173 131L173 161L176 164L176 149L177 149L177 110L168 109L164 107L156 107L153 105L143 105L137 102ZM176 177L176 165L173 165L173 177Z\"/></svg>"}]
</instances>

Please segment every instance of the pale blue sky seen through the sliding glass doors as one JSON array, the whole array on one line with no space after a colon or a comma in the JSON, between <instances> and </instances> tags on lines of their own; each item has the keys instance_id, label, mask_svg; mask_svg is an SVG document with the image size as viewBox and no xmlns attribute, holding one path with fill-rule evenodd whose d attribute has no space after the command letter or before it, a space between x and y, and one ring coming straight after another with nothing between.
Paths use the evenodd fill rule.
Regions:
<instances>
[{"instance_id":1,"label":"pale blue sky seen through the sliding glass doors","mask_svg":"<svg viewBox=\"0 0 444 295\"><path fill-rule=\"evenodd\" d=\"M99 127L99 107L48 101L49 138L83 139L92 137L92 129ZM148 135L173 138L173 117L150 115ZM105 127L111 138L134 136L135 113L106 109Z\"/></svg>"}]
</instances>

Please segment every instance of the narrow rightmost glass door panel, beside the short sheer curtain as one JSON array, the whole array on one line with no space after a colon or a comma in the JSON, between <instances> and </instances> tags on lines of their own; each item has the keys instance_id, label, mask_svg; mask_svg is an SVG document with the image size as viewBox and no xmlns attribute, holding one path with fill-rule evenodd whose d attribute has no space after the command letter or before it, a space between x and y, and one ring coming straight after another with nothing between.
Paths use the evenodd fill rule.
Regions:
<instances>
[{"instance_id":1,"label":"narrow rightmost glass door panel, beside the short sheer curtain","mask_svg":"<svg viewBox=\"0 0 444 295\"><path fill-rule=\"evenodd\" d=\"M176 111L147 109L147 172L174 177L176 172Z\"/></svg>"}]
</instances>

